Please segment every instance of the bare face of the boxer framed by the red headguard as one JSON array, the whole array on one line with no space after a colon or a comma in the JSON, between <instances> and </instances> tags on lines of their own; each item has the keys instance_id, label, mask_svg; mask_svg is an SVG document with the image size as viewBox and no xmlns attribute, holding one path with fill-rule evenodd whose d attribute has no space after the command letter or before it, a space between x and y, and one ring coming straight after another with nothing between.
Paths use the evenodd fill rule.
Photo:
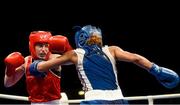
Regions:
<instances>
[{"instance_id":1,"label":"bare face of the boxer framed by the red headguard","mask_svg":"<svg viewBox=\"0 0 180 105\"><path fill-rule=\"evenodd\" d=\"M38 58L46 59L46 55L49 52L49 44L48 43L37 43L35 45L35 51L36 51Z\"/></svg>"}]
</instances>

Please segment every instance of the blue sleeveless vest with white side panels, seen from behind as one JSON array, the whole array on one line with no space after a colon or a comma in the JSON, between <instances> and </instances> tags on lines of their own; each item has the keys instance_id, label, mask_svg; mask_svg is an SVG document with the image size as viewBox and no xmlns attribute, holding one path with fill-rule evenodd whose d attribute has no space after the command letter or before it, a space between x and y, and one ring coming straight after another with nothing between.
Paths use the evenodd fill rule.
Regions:
<instances>
[{"instance_id":1,"label":"blue sleeveless vest with white side panels, seen from behind","mask_svg":"<svg viewBox=\"0 0 180 105\"><path fill-rule=\"evenodd\" d=\"M108 47L100 49L96 45L85 46L83 49L76 49L75 52L78 55L76 67L85 91L119 88L116 70L114 69L115 64L111 60L114 58L109 53Z\"/></svg>"}]
</instances>

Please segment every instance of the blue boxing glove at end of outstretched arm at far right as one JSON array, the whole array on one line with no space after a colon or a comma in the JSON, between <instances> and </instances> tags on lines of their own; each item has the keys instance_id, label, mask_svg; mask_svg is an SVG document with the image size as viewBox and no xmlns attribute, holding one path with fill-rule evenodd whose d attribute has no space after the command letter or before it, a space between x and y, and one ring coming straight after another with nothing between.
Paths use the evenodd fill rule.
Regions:
<instances>
[{"instance_id":1,"label":"blue boxing glove at end of outstretched arm at far right","mask_svg":"<svg viewBox=\"0 0 180 105\"><path fill-rule=\"evenodd\" d=\"M153 64L149 72L166 88L174 88L179 84L179 76L173 70Z\"/></svg>"}]
</instances>

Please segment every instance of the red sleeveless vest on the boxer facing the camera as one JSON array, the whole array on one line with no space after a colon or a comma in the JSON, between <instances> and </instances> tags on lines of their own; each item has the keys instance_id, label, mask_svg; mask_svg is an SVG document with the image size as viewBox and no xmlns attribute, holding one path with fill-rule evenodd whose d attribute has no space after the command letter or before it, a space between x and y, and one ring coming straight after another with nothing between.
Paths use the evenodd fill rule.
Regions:
<instances>
[{"instance_id":1,"label":"red sleeveless vest on the boxer facing the camera","mask_svg":"<svg viewBox=\"0 0 180 105\"><path fill-rule=\"evenodd\" d=\"M30 74L29 66L32 57L26 64L26 88L31 102L47 102L61 98L60 77L48 71L46 77L35 77Z\"/></svg>"}]
</instances>

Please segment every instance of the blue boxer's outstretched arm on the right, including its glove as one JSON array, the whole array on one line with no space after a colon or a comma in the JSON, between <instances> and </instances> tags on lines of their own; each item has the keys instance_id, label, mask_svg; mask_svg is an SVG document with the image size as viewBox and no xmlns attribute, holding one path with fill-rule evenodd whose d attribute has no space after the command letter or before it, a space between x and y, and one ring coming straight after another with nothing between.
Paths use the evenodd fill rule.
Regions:
<instances>
[{"instance_id":1,"label":"blue boxer's outstretched arm on the right, including its glove","mask_svg":"<svg viewBox=\"0 0 180 105\"><path fill-rule=\"evenodd\" d=\"M179 76L173 70L160 67L141 55L123 51L118 47L112 47L112 49L112 54L117 59L133 62L134 64L148 70L164 87L171 89L179 84Z\"/></svg>"}]
</instances>

